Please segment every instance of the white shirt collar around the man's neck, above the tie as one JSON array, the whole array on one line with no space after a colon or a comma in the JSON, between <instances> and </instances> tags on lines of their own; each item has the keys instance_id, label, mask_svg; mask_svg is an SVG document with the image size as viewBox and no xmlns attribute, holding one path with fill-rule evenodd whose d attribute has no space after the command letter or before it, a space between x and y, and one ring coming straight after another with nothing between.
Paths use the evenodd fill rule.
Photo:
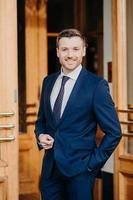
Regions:
<instances>
[{"instance_id":1,"label":"white shirt collar around the man's neck, above the tie","mask_svg":"<svg viewBox=\"0 0 133 200\"><path fill-rule=\"evenodd\" d=\"M72 72L70 72L69 74L67 74L67 76L73 80L77 80L78 75L80 73L82 69L82 65L80 64L78 67L76 67L75 70L73 70ZM63 76L66 76L61 68L61 73L60 73L60 77L62 78Z\"/></svg>"}]
</instances>

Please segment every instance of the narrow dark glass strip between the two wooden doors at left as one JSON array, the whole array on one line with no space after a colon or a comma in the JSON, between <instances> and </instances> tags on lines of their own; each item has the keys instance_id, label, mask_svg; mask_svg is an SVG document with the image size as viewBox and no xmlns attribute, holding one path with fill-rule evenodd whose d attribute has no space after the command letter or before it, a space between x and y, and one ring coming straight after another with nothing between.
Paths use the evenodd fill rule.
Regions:
<instances>
[{"instance_id":1,"label":"narrow dark glass strip between the two wooden doors at left","mask_svg":"<svg viewBox=\"0 0 133 200\"><path fill-rule=\"evenodd\" d=\"M25 4L19 0L18 6L18 95L19 132L26 132L26 72L25 72Z\"/></svg>"}]
</instances>

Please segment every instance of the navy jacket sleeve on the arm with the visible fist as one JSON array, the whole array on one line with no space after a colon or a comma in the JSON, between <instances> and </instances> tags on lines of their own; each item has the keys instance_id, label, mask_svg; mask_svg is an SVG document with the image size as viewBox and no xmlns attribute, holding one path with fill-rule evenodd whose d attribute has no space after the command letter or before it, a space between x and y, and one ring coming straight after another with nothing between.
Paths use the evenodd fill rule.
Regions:
<instances>
[{"instance_id":1,"label":"navy jacket sleeve on the arm with the visible fist","mask_svg":"<svg viewBox=\"0 0 133 200\"><path fill-rule=\"evenodd\" d=\"M40 97L40 105L38 110L37 120L35 122L35 135L37 139L37 145L39 149L42 149L41 145L39 145L38 137L40 134L44 134L46 131L46 120L45 120L45 111L44 111L44 92L45 92L45 79L43 80L42 90L41 90L41 97Z\"/></svg>"}]
</instances>

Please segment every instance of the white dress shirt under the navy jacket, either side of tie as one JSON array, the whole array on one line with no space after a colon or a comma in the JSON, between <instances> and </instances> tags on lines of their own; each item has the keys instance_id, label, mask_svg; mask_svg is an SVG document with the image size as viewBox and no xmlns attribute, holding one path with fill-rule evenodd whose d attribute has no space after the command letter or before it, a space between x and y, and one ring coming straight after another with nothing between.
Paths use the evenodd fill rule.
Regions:
<instances>
[{"instance_id":1,"label":"white dress shirt under the navy jacket, either side of tie","mask_svg":"<svg viewBox=\"0 0 133 200\"><path fill-rule=\"evenodd\" d=\"M61 116L64 112L64 109L66 107L66 104L67 104L70 94L72 92L72 89L75 85L75 82L81 72L81 69L82 69L82 65L79 65L75 70L73 70L72 72L70 72L67 75L65 75L61 69L61 73L58 76L57 80L55 81L55 84L54 84L54 87L52 89L51 96L50 96L50 103L51 103L52 110L54 108L56 98L57 98L60 88L61 88L62 77L63 76L69 77L68 81L65 84L65 88L64 88L64 96L63 96L62 107L61 107Z\"/></svg>"}]
</instances>

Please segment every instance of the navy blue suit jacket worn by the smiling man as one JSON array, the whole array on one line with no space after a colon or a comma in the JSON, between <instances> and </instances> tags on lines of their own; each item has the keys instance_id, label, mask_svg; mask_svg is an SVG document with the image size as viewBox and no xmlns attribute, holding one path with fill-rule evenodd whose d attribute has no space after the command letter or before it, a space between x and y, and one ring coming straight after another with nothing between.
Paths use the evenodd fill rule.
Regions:
<instances>
[{"instance_id":1,"label":"navy blue suit jacket worn by the smiling man","mask_svg":"<svg viewBox=\"0 0 133 200\"><path fill-rule=\"evenodd\" d=\"M53 148L46 150L44 155L42 176L50 176L54 160L60 171L69 177L88 168L100 169L121 138L108 83L82 68L57 126L51 110L50 94L58 75L49 75L43 81L35 124L37 138L41 133L50 134L54 138ZM98 147L97 124L105 133Z\"/></svg>"}]
</instances>

